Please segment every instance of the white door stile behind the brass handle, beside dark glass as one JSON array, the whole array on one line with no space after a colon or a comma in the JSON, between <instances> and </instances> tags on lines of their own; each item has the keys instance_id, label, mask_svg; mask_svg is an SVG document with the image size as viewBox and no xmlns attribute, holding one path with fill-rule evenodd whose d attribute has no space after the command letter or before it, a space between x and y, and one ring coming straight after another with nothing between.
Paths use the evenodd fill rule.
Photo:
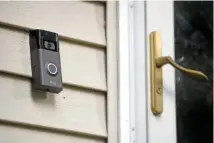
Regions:
<instances>
[{"instance_id":1,"label":"white door stile behind the brass handle, beside dark glass","mask_svg":"<svg viewBox=\"0 0 214 143\"><path fill-rule=\"evenodd\" d=\"M146 1L146 31L161 33L162 56L174 59L174 1ZM148 41L148 40L147 40ZM147 42L147 53L149 54ZM150 59L147 60L150 68ZM175 103L175 69L172 66L162 67L163 75L163 113L154 116L150 108L150 90L148 90L148 140L150 143L176 143L176 103ZM150 72L148 76L150 77ZM150 80L147 80L150 89Z\"/></svg>"}]
</instances>

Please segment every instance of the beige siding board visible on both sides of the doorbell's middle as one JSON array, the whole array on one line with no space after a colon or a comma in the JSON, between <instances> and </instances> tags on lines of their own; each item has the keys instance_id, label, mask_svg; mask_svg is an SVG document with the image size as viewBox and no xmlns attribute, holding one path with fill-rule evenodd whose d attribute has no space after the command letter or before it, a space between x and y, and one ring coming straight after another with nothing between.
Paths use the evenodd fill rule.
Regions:
<instances>
[{"instance_id":1,"label":"beige siding board visible on both sides of the doorbell's middle","mask_svg":"<svg viewBox=\"0 0 214 143\"><path fill-rule=\"evenodd\" d=\"M31 77L28 33L0 27L0 43L0 71ZM104 50L67 41L59 46L65 84L106 91Z\"/></svg>"}]
</instances>

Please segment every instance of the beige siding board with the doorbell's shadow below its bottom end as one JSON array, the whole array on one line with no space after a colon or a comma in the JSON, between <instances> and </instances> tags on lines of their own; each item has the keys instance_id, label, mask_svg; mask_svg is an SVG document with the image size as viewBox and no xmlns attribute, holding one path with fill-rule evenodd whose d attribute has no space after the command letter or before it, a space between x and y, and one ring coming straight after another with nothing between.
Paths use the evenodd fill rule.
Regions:
<instances>
[{"instance_id":1,"label":"beige siding board with the doorbell's shadow below its bottom end","mask_svg":"<svg viewBox=\"0 0 214 143\"><path fill-rule=\"evenodd\" d=\"M46 94L31 90L28 78L5 74L0 89L0 120L107 136L102 93L65 87L58 95Z\"/></svg>"}]
</instances>

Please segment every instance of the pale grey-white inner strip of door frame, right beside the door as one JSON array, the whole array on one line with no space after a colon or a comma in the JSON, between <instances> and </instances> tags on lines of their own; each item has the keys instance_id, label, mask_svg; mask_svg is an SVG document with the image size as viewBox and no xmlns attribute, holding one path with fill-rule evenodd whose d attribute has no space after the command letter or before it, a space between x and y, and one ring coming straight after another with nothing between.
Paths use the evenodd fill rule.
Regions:
<instances>
[{"instance_id":1,"label":"pale grey-white inner strip of door frame, right beside the door","mask_svg":"<svg viewBox=\"0 0 214 143\"><path fill-rule=\"evenodd\" d=\"M146 17L145 1L134 2L134 61L135 65L135 143L149 143L146 81Z\"/></svg>"}]
</instances>

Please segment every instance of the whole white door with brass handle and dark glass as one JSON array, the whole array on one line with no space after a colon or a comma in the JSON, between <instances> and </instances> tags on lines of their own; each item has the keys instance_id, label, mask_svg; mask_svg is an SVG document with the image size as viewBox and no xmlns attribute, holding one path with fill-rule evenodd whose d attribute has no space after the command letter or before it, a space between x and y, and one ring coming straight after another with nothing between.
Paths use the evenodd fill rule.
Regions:
<instances>
[{"instance_id":1,"label":"whole white door with brass handle and dark glass","mask_svg":"<svg viewBox=\"0 0 214 143\"><path fill-rule=\"evenodd\" d=\"M212 143L213 2L145 6L148 142Z\"/></svg>"}]
</instances>

